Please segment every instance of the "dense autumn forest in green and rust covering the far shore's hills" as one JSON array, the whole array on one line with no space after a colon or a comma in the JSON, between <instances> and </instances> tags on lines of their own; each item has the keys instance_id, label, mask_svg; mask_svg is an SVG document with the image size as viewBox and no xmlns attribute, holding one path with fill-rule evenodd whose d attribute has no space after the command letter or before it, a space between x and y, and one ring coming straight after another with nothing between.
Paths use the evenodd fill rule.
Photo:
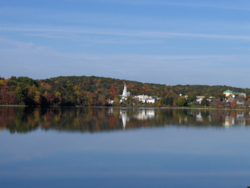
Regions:
<instances>
[{"instance_id":1,"label":"dense autumn forest in green and rust covering the far shore's hills","mask_svg":"<svg viewBox=\"0 0 250 188\"><path fill-rule=\"evenodd\" d=\"M249 88L219 85L169 86L96 76L59 76L42 80L12 76L8 79L0 78L0 104L105 106L108 105L107 99L119 97L124 84L132 95L161 97L160 104L156 104L158 106L183 106L181 101L175 102L180 93L192 97L212 95L221 98L222 93L229 89L250 95ZM192 97L188 100L192 100ZM127 103L125 105L140 105L132 97Z\"/></svg>"}]
</instances>

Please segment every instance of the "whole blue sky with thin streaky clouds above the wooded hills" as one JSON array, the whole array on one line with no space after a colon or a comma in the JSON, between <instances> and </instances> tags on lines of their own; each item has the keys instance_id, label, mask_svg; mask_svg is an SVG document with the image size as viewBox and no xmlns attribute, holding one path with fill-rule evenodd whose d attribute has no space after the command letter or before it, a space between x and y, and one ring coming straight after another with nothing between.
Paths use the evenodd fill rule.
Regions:
<instances>
[{"instance_id":1,"label":"whole blue sky with thin streaky clouds above the wooded hills","mask_svg":"<svg viewBox=\"0 0 250 188\"><path fill-rule=\"evenodd\" d=\"M250 88L249 0L0 0L0 76Z\"/></svg>"}]
</instances>

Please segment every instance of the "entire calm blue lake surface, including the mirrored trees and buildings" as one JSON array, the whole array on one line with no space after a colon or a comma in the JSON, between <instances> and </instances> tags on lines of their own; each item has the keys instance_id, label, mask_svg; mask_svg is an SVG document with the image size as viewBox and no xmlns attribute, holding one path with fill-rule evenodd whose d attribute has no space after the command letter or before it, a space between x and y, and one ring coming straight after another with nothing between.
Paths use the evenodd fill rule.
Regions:
<instances>
[{"instance_id":1,"label":"entire calm blue lake surface, including the mirrored trees and buildings","mask_svg":"<svg viewBox=\"0 0 250 188\"><path fill-rule=\"evenodd\" d=\"M248 186L249 112L0 107L0 187Z\"/></svg>"}]
</instances>

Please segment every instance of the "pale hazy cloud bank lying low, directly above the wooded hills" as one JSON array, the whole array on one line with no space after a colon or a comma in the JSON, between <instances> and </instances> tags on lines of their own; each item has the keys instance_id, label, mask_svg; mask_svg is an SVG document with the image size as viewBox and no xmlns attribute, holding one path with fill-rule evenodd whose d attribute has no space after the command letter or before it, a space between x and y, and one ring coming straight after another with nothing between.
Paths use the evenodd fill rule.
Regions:
<instances>
[{"instance_id":1,"label":"pale hazy cloud bank lying low, directly above the wooded hills","mask_svg":"<svg viewBox=\"0 0 250 188\"><path fill-rule=\"evenodd\" d=\"M168 85L187 84L183 78L189 78L188 84L238 87L248 84L249 55L82 55L1 38L0 41L15 46L0 50L1 61L6 65L1 76L6 78L12 75L32 78L96 75ZM237 79L228 79L228 72L234 72Z\"/></svg>"}]
</instances>

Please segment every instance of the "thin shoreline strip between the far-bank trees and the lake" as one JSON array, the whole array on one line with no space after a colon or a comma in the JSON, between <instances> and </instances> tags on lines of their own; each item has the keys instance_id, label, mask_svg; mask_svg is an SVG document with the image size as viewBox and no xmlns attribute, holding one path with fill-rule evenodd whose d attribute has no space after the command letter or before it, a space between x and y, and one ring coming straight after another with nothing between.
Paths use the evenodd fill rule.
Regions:
<instances>
[{"instance_id":1,"label":"thin shoreline strip between the far-bank trees and the lake","mask_svg":"<svg viewBox=\"0 0 250 188\"><path fill-rule=\"evenodd\" d=\"M185 109L185 110L242 110L242 111L250 111L250 108L202 108L202 107L132 107L132 106L53 106L53 105L0 105L0 107L30 107L30 108L52 108L52 107L58 107L58 108L138 108L138 109Z\"/></svg>"}]
</instances>

